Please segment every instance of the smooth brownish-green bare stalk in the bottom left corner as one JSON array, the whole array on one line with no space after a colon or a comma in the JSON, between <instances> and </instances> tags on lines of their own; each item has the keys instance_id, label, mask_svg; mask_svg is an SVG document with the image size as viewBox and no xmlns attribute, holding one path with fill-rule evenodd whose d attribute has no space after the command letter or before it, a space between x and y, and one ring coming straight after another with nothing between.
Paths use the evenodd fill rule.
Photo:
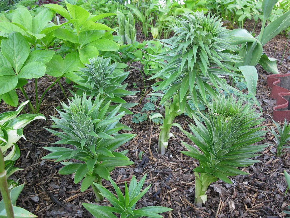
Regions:
<instances>
[{"instance_id":1,"label":"smooth brownish-green bare stalk in the bottom left corner","mask_svg":"<svg viewBox=\"0 0 290 218\"><path fill-rule=\"evenodd\" d=\"M14 218L13 205L8 189L8 183L6 178L6 170L4 163L3 153L0 151L0 191L2 199L4 201L4 206L6 210L7 217Z\"/></svg>"}]
</instances>

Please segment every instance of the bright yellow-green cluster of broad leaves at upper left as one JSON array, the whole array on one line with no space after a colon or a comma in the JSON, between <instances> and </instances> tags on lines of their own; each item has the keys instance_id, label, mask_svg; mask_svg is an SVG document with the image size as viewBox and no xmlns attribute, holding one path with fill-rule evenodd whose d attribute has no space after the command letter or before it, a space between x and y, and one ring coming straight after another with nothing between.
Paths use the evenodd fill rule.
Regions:
<instances>
[{"instance_id":1,"label":"bright yellow-green cluster of broad leaves at upper left","mask_svg":"<svg viewBox=\"0 0 290 218\"><path fill-rule=\"evenodd\" d=\"M53 36L64 42L62 47L76 51L81 62L89 63L88 60L98 56L99 51L118 51L119 45L113 41L113 35L110 33L114 30L96 22L104 17L116 15L115 13L91 15L84 8L69 3L66 3L67 10L58 4L46 4L44 7L70 21L71 28L58 28L53 32Z\"/></svg>"}]
</instances>

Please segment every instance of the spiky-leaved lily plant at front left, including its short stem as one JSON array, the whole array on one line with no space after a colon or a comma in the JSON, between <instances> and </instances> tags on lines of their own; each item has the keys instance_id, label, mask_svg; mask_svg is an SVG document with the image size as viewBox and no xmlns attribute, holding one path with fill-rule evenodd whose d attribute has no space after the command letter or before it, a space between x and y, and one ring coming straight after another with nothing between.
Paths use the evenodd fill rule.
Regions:
<instances>
[{"instance_id":1,"label":"spiky-leaved lily plant at front left, including its short stem","mask_svg":"<svg viewBox=\"0 0 290 218\"><path fill-rule=\"evenodd\" d=\"M124 112L117 114L121 105L109 112L110 101L106 104L103 102L104 99L100 99L100 96L92 100L83 94L83 97L73 97L68 101L68 105L61 103L63 109L57 110L59 118L51 118L56 124L52 128L60 128L62 132L46 129L61 138L54 144L70 144L75 149L43 147L52 152L43 158L68 160L61 162L65 166L59 173L75 173L75 184L84 178L81 191L85 191L91 185L97 201L102 200L102 196L94 183L101 185L102 178L108 179L110 171L117 166L134 164L125 156L128 150L115 152L115 149L135 136L130 133L118 134L120 130L131 130L119 122L124 115ZM78 161L72 161L73 159Z\"/></svg>"}]
</instances>

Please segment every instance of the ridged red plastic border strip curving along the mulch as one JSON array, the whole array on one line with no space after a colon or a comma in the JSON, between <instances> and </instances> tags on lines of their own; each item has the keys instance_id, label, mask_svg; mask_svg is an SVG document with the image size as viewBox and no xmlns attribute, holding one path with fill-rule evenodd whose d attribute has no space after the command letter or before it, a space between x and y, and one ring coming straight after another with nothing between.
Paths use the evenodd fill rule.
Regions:
<instances>
[{"instance_id":1,"label":"ridged red plastic border strip curving along the mulch","mask_svg":"<svg viewBox=\"0 0 290 218\"><path fill-rule=\"evenodd\" d=\"M267 76L267 84L269 87L272 88L270 97L277 99L276 106L273 108L273 120L275 120L276 122L283 122L285 118L290 121L290 110L278 110L281 108L287 108L289 105L288 100L284 97L290 96L290 90L285 87L279 86L280 78L284 76L290 77L290 73L272 74Z\"/></svg>"}]
</instances>

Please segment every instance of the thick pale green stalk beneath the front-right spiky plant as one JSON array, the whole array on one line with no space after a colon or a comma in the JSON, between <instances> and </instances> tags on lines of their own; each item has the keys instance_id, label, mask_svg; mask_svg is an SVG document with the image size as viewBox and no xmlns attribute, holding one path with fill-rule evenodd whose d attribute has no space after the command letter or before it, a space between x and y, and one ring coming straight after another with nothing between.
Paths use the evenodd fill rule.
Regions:
<instances>
[{"instance_id":1,"label":"thick pale green stalk beneath the front-right spiky plant","mask_svg":"<svg viewBox=\"0 0 290 218\"><path fill-rule=\"evenodd\" d=\"M206 190L212 182L218 181L213 175L208 175L206 173L194 172L195 175L195 196L194 203L195 206L201 207L202 203L207 200ZM204 199L204 200L203 200Z\"/></svg>"}]
</instances>

